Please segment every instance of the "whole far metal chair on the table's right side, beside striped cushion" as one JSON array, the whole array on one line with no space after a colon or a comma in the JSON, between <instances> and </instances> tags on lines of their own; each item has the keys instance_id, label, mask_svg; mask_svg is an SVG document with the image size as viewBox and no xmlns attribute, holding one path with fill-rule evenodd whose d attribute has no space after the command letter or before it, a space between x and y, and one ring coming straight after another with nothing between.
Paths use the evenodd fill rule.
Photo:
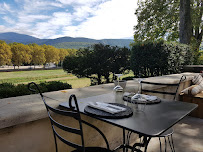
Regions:
<instances>
[{"instance_id":1,"label":"whole far metal chair on the table's right side, beside striped cushion","mask_svg":"<svg viewBox=\"0 0 203 152\"><path fill-rule=\"evenodd\" d=\"M173 83L173 84L171 84L171 83L169 84L169 83L150 82L150 81L144 80L144 81L141 81L141 93L142 94L151 94L151 95L156 94L156 96L169 95L169 96L172 97L173 100L175 100L179 85L185 79L186 79L186 76L182 76L180 78L180 80L178 81L178 83ZM143 86L144 84L146 84L148 86L151 85L151 86L157 86L157 87L155 88L155 90L153 90L153 89L149 89L149 87L148 88L144 87ZM162 89L164 87L172 87L173 89L171 88L170 91L162 91ZM173 143L173 136L172 135L173 135L173 128L170 128L166 132L164 132L163 134L158 136L159 142L160 142L160 151L162 151L161 138L164 138L165 152L166 152L166 149L167 149L167 139L168 139L171 151L175 152L174 143Z\"/></svg>"}]
</instances>

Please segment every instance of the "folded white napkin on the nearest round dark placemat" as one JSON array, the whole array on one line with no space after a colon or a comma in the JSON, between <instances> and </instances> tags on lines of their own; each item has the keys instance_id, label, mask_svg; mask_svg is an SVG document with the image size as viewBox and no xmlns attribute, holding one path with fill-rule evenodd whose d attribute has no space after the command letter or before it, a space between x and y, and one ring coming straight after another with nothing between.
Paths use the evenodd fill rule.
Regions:
<instances>
[{"instance_id":1,"label":"folded white napkin on the nearest round dark placemat","mask_svg":"<svg viewBox=\"0 0 203 152\"><path fill-rule=\"evenodd\" d=\"M126 110L126 108L104 103L104 102L89 102L88 106L111 113L111 114L119 113Z\"/></svg>"}]
</instances>

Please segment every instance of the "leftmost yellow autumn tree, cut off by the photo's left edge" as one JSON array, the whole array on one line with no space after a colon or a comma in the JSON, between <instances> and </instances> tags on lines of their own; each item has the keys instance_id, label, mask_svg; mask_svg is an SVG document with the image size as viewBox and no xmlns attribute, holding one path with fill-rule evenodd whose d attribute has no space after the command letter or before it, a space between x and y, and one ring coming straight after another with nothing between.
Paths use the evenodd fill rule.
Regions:
<instances>
[{"instance_id":1,"label":"leftmost yellow autumn tree, cut off by the photo's left edge","mask_svg":"<svg viewBox=\"0 0 203 152\"><path fill-rule=\"evenodd\" d=\"M0 66L11 63L11 47L4 41L0 41Z\"/></svg>"}]
</instances>

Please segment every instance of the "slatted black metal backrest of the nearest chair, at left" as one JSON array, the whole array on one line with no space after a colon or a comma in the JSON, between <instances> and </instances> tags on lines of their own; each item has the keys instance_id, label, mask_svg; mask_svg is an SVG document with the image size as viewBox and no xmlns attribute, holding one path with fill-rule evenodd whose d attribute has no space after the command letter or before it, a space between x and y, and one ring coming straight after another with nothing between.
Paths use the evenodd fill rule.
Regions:
<instances>
[{"instance_id":1,"label":"slatted black metal backrest of the nearest chair, at left","mask_svg":"<svg viewBox=\"0 0 203 152\"><path fill-rule=\"evenodd\" d=\"M34 88L33 88L34 87ZM82 121L81 121L81 116L80 116L80 112L79 112L79 107L78 107L78 103L77 103L77 99L76 99L76 96L75 95L71 95L70 98L69 98L69 107L67 109L67 111L65 110L61 110L61 109L56 109L56 108L53 108L51 106L49 106L47 103L46 103L46 96L44 96L42 94L42 92L40 91L38 85L34 82L31 82L28 84L28 88L30 91L32 92L39 92L43 102L44 102L44 105L46 107L46 110L47 110L47 113L48 113L48 116L49 116L49 119L50 119L50 122L51 122L51 127L52 127L52 130L53 130L53 134L54 134L54 140L55 140L55 146L56 146L56 152L58 151L58 147L57 147L57 139L60 139L63 143L65 143L66 145L69 145L75 149L79 149L80 151L83 151L85 152L85 147L84 147L84 137L83 137L83 130L82 130ZM72 100L74 100L74 104L75 106L72 106ZM58 114L58 115L62 115L62 116L68 116L68 117L72 117L74 118L76 121L79 122L79 127L78 128L73 128L73 127L70 127L70 126L67 126L67 125L63 125L59 122L57 122L53 117L52 115L54 114ZM56 130L56 128L58 128L57 130L63 130L65 132L70 132L70 133L73 133L73 134L77 134L79 136L81 136L81 145L80 144L77 144L77 143L74 143L74 142L71 142L71 141L68 141L67 139L63 138Z\"/></svg>"}]
</instances>

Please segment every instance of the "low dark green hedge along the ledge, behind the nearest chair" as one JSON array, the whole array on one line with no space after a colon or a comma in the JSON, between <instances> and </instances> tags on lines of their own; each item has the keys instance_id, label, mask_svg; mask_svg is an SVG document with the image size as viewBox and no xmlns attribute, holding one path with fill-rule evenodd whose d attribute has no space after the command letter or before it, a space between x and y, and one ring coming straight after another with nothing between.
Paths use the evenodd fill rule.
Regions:
<instances>
[{"instance_id":1,"label":"low dark green hedge along the ledge, behind the nearest chair","mask_svg":"<svg viewBox=\"0 0 203 152\"><path fill-rule=\"evenodd\" d=\"M39 88L42 92L50 92L50 91L71 89L72 86L70 84L59 82L59 81L50 81L50 82L40 83ZM18 84L16 86L11 83L0 84L0 99L22 96L22 95L29 95L29 94L32 94L32 92L28 90L27 84Z\"/></svg>"}]
</instances>

